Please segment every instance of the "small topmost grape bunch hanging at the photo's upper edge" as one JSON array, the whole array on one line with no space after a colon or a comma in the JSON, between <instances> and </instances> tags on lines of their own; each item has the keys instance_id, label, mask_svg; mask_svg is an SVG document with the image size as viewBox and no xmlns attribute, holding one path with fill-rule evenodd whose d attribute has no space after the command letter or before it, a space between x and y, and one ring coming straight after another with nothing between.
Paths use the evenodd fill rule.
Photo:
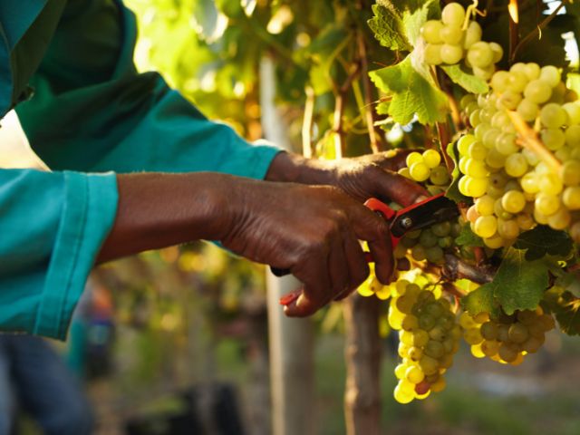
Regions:
<instances>
[{"instance_id":1,"label":"small topmost grape bunch hanging at the photo's upper edge","mask_svg":"<svg viewBox=\"0 0 580 435\"><path fill-rule=\"evenodd\" d=\"M420 29L425 46L425 62L430 65L455 64L465 59L467 67L481 79L488 80L503 55L498 43L481 41L481 27L469 21L469 14L459 3L449 3L440 20L429 20Z\"/></svg>"}]
</instances>

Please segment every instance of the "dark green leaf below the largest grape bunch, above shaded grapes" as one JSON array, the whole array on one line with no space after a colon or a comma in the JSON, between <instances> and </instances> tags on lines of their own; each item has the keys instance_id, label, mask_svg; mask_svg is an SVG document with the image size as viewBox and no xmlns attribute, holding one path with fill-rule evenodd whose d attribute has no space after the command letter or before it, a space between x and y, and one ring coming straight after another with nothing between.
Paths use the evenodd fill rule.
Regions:
<instances>
[{"instance_id":1,"label":"dark green leaf below the largest grape bunch, above shaded grapes","mask_svg":"<svg viewBox=\"0 0 580 435\"><path fill-rule=\"evenodd\" d=\"M544 259L528 261L523 250L509 247L489 285L507 314L534 310L546 291L548 270L549 262Z\"/></svg>"}]
</instances>

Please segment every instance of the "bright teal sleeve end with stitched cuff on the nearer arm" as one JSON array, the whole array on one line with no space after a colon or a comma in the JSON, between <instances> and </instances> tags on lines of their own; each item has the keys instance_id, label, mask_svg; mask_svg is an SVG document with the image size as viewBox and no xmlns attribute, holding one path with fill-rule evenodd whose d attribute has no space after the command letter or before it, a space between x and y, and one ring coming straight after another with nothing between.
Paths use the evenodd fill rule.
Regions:
<instances>
[{"instance_id":1,"label":"bright teal sleeve end with stitched cuff on the nearer arm","mask_svg":"<svg viewBox=\"0 0 580 435\"><path fill-rule=\"evenodd\" d=\"M112 173L0 169L0 329L65 338L117 195Z\"/></svg>"}]
</instances>

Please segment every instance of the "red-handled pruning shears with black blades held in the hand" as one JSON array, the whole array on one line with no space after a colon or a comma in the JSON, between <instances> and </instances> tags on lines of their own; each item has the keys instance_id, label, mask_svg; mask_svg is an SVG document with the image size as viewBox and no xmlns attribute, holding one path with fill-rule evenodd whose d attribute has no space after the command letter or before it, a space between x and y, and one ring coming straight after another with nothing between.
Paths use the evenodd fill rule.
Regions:
<instances>
[{"instance_id":1,"label":"red-handled pruning shears with black blades held in the hand","mask_svg":"<svg viewBox=\"0 0 580 435\"><path fill-rule=\"evenodd\" d=\"M393 210L377 198L367 199L364 205L389 222L389 227L391 228L391 247L393 249L397 247L405 234L459 216L457 204L451 199L446 198L443 193L426 198L400 210ZM365 252L364 254L366 261L372 263L371 253ZM272 267L272 272L276 276L288 275L290 273L287 269L275 267ZM302 290L290 292L280 298L280 304L292 304L301 294Z\"/></svg>"}]
</instances>

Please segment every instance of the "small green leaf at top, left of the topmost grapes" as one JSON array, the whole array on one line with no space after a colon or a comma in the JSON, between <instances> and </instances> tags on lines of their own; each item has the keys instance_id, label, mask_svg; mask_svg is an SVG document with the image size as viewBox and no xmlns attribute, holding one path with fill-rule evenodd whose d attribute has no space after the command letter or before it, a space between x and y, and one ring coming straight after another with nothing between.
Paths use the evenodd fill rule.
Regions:
<instances>
[{"instance_id":1,"label":"small green leaf at top, left of the topmost grapes","mask_svg":"<svg viewBox=\"0 0 580 435\"><path fill-rule=\"evenodd\" d=\"M399 11L385 2L384 5L372 5L372 13L374 17L368 24L374 37L383 47L411 51L411 43L405 36L405 26Z\"/></svg>"}]
</instances>

